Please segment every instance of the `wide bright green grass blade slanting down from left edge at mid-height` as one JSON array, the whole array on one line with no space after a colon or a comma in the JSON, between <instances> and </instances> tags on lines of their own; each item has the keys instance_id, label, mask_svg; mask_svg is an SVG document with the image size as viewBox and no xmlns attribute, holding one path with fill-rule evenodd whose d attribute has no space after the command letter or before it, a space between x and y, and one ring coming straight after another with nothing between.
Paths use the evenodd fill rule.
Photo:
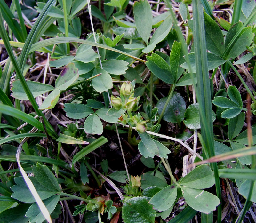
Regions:
<instances>
[{"instance_id":1,"label":"wide bright green grass blade slanting down from left edge at mid-height","mask_svg":"<svg viewBox=\"0 0 256 223\"><path fill-rule=\"evenodd\" d=\"M18 110L17 108L13 108L12 106L8 105L1 105L1 113L10 115L12 117L19 118L20 120L23 120L24 122L27 122L28 124L36 127L37 129L40 129L41 131L44 131L44 127L41 122L39 122L37 119L35 119L33 116L26 114L23 111Z\"/></svg>"}]
</instances>

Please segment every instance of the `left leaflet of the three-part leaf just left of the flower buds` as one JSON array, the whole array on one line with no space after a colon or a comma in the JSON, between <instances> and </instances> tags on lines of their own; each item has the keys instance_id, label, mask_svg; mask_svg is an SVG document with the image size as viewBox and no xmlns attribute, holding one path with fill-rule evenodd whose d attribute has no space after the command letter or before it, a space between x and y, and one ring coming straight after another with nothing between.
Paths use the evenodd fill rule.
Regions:
<instances>
[{"instance_id":1,"label":"left leaflet of the three-part leaf just left of the flower buds","mask_svg":"<svg viewBox=\"0 0 256 223\"><path fill-rule=\"evenodd\" d=\"M66 116L69 118L81 119L93 113L92 108L84 104L66 103L64 106L65 108L63 109L66 112Z\"/></svg>"}]
</instances>

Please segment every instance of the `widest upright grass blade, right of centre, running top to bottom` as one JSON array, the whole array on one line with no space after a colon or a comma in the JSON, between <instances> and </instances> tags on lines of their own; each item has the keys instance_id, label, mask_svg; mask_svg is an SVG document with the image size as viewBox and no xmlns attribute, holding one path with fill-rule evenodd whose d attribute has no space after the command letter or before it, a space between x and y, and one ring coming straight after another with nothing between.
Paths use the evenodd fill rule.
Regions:
<instances>
[{"instance_id":1,"label":"widest upright grass blade, right of centre, running top to bottom","mask_svg":"<svg viewBox=\"0 0 256 223\"><path fill-rule=\"evenodd\" d=\"M201 134L206 145L205 149L207 150L209 157L211 157L215 155L215 150L213 144L212 100L207 65L204 14L203 7L200 1L193 0L192 5L197 79L197 100L199 102ZM203 154L203 157L206 156ZM211 166L214 171L216 193L221 202L220 178L217 163L212 163ZM217 220L218 223L221 222L221 204L218 206Z\"/></svg>"}]
</instances>

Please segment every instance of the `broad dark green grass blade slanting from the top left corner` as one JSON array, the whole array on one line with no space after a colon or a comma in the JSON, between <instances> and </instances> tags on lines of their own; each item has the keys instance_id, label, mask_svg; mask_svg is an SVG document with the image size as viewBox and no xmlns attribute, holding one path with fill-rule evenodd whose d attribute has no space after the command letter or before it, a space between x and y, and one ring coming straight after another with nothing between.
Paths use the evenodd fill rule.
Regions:
<instances>
[{"instance_id":1,"label":"broad dark green grass blade slanting from the top left corner","mask_svg":"<svg viewBox=\"0 0 256 223\"><path fill-rule=\"evenodd\" d=\"M4 0L0 0L0 7L3 13L4 20L7 22L8 26L12 29L14 36L17 38L19 42L24 42L25 38L22 35L22 30L20 28L19 23L15 20L14 15L11 10L4 2Z\"/></svg>"}]
</instances>

